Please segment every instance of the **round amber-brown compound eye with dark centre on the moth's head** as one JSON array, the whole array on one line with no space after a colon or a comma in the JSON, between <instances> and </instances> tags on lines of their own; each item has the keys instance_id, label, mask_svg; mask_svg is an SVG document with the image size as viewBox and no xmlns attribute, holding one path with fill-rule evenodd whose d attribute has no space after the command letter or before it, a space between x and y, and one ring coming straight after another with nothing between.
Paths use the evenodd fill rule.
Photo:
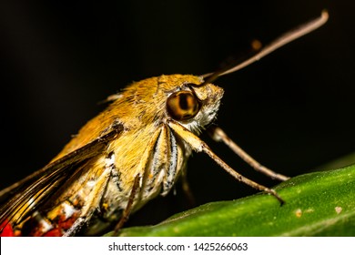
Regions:
<instances>
[{"instance_id":1,"label":"round amber-brown compound eye with dark centre on the moth's head","mask_svg":"<svg viewBox=\"0 0 355 255\"><path fill-rule=\"evenodd\" d=\"M195 117L198 110L198 98L190 91L177 91L167 97L167 112L176 120Z\"/></svg>"}]
</instances>

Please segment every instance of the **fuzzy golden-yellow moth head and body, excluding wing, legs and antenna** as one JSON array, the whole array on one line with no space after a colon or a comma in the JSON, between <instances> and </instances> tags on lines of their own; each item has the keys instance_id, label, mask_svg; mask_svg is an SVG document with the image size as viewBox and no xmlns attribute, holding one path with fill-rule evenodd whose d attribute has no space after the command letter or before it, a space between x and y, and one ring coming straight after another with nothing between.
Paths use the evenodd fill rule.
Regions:
<instances>
[{"instance_id":1,"label":"fuzzy golden-yellow moth head and body, excluding wing, legs and antenna","mask_svg":"<svg viewBox=\"0 0 355 255\"><path fill-rule=\"evenodd\" d=\"M51 195L50 202L41 205L27 219L22 219L24 211L17 214L15 218L21 224L17 225L16 233L75 235L85 228L90 235L96 234L120 219L137 176L141 180L133 211L159 194L167 195L192 152L184 138L169 128L167 120L172 117L167 98L174 93L180 95L173 99L176 102L170 111L183 116L189 114L186 113L189 102L185 102L189 99L181 95L195 97L192 103L198 104L194 106L198 107L196 115L177 121L198 135L215 119L223 95L223 89L212 84L194 87L202 82L199 76L171 75L148 78L126 87L106 110L79 130L52 163L122 127L117 138L108 141L99 154L78 164L74 176ZM25 211L35 207L34 201L27 204ZM22 229L30 232L24 233Z\"/></svg>"}]
</instances>

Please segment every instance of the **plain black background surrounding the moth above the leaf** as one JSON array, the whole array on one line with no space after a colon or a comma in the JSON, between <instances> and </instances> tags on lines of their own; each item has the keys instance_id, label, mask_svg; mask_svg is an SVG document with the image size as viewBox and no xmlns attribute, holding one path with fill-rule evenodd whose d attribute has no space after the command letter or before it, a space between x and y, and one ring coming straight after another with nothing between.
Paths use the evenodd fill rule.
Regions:
<instances>
[{"instance_id":1,"label":"plain black background surrounding the moth above the leaf","mask_svg":"<svg viewBox=\"0 0 355 255\"><path fill-rule=\"evenodd\" d=\"M24 2L24 3L22 3ZM1 185L42 168L132 81L201 75L250 42L270 40L330 12L326 26L215 83L225 88L218 125L260 162L299 175L355 151L355 18L352 1L2 1ZM202 137L233 168L273 186L228 148ZM205 155L188 179L197 204L254 193ZM187 209L156 199L129 224Z\"/></svg>"}]
</instances>

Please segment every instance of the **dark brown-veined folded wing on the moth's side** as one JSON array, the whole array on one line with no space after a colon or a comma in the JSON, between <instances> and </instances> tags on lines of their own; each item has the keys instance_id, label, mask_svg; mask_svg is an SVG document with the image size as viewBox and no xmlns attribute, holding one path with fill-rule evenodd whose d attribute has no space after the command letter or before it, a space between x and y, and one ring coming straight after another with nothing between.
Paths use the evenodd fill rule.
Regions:
<instances>
[{"instance_id":1,"label":"dark brown-veined folded wing on the moth's side","mask_svg":"<svg viewBox=\"0 0 355 255\"><path fill-rule=\"evenodd\" d=\"M87 160L102 153L107 144L117 138L122 131L123 126L118 125L105 135L1 190L0 232L7 222L19 224L49 197L54 196L56 190L62 188L77 171L80 171Z\"/></svg>"}]
</instances>

